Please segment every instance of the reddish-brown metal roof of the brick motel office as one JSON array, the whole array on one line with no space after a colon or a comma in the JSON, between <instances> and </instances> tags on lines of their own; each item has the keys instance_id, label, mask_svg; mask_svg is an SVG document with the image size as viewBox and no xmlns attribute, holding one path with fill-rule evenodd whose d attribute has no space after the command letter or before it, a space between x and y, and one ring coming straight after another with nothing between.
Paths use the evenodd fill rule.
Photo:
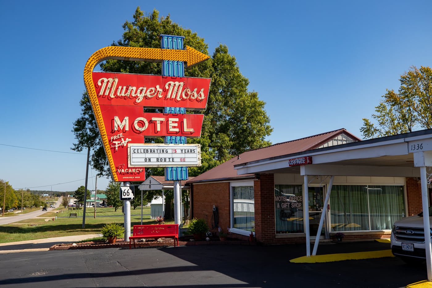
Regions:
<instances>
[{"instance_id":1,"label":"reddish-brown metal roof of the brick motel office","mask_svg":"<svg viewBox=\"0 0 432 288\"><path fill-rule=\"evenodd\" d=\"M334 139L340 134L346 134L354 141L361 141L362 139L356 137L350 132L346 131L345 128L341 128L334 131L325 132L301 138L297 140L282 142L273 144L271 146L258 148L254 150L248 150L228 161L222 163L213 169L210 169L199 176L196 176L193 180L187 180L187 183L203 182L203 181L215 181L222 179L233 179L233 178L250 178L254 174L237 175L237 171L234 170L234 165L248 163L251 161L267 159L271 157L277 157L282 155L293 154L297 152L312 150L320 147L322 144L327 143L331 139Z\"/></svg>"}]
</instances>

